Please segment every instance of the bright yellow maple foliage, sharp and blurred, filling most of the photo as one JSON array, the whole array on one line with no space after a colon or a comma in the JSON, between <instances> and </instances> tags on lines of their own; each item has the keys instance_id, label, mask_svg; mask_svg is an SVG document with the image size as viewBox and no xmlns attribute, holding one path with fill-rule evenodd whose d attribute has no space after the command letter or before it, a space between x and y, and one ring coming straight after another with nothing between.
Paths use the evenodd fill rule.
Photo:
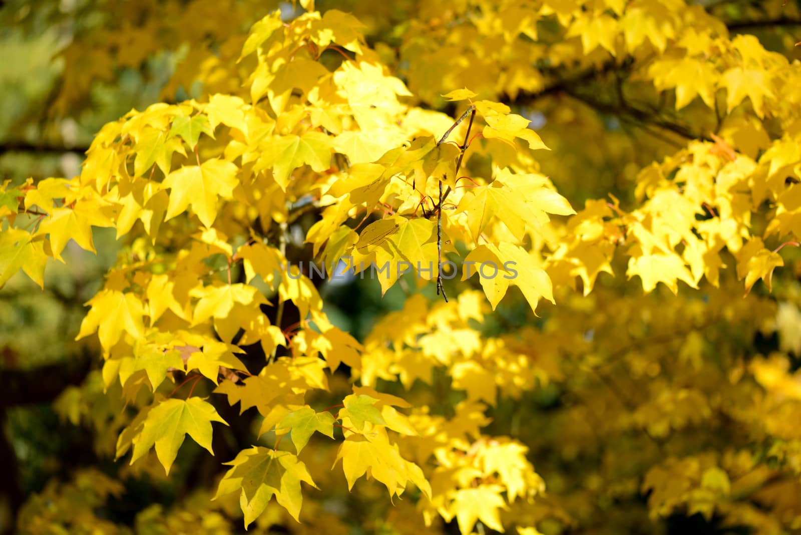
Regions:
<instances>
[{"instance_id":1,"label":"bright yellow maple foliage, sharp and blurred, filling most of the photo","mask_svg":"<svg viewBox=\"0 0 801 535\"><path fill-rule=\"evenodd\" d=\"M0 186L3 292L120 243L19 533L801 529L795 2L96 3L51 116L178 59Z\"/></svg>"}]
</instances>

